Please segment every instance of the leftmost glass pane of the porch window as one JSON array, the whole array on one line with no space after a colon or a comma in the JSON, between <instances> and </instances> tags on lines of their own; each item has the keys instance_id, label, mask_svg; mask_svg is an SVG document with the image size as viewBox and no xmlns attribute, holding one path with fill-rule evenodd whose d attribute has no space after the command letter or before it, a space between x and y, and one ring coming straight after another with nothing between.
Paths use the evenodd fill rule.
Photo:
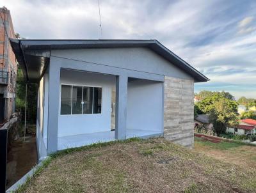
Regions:
<instances>
[{"instance_id":1,"label":"leftmost glass pane of the porch window","mask_svg":"<svg viewBox=\"0 0 256 193\"><path fill-rule=\"evenodd\" d=\"M60 114L71 114L71 86L61 85Z\"/></svg>"}]
</instances>

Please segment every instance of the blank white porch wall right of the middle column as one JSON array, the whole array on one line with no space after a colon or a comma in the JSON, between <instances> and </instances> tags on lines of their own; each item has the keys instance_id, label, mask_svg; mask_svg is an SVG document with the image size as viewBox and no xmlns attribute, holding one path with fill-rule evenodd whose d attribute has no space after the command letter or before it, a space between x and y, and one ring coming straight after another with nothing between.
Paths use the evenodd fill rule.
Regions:
<instances>
[{"instance_id":1,"label":"blank white porch wall right of the middle column","mask_svg":"<svg viewBox=\"0 0 256 193\"><path fill-rule=\"evenodd\" d=\"M127 129L163 132L163 83L128 82Z\"/></svg>"}]
</instances>

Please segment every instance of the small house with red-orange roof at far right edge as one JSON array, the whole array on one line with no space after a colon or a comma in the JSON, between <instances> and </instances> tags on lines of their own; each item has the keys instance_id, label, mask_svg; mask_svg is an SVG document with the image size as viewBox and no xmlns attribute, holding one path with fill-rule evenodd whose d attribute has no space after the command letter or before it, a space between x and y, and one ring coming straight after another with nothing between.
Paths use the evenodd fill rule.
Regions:
<instances>
[{"instance_id":1,"label":"small house with red-orange roof at far right edge","mask_svg":"<svg viewBox=\"0 0 256 193\"><path fill-rule=\"evenodd\" d=\"M236 127L227 127L226 132L237 135L253 135L256 134L256 120L241 120Z\"/></svg>"}]
</instances>

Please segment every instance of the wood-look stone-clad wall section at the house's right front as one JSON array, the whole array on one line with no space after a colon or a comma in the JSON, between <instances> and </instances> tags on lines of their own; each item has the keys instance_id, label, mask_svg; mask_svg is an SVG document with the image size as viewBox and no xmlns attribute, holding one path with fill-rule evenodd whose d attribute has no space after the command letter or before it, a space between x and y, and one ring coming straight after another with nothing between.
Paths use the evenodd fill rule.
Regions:
<instances>
[{"instance_id":1,"label":"wood-look stone-clad wall section at the house's right front","mask_svg":"<svg viewBox=\"0 0 256 193\"><path fill-rule=\"evenodd\" d=\"M194 81L164 77L164 138L194 144Z\"/></svg>"}]
</instances>

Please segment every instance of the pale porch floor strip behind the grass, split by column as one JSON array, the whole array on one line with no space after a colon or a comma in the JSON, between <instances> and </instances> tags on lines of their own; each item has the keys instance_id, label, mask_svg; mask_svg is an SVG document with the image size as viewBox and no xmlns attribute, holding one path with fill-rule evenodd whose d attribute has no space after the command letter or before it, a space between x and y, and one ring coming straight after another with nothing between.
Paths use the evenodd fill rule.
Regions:
<instances>
[{"instance_id":1,"label":"pale porch floor strip behind the grass, split by column","mask_svg":"<svg viewBox=\"0 0 256 193\"><path fill-rule=\"evenodd\" d=\"M160 135L163 134L156 131L131 129L126 130L126 139L129 139L131 137L157 137ZM108 141L115 141L115 131L58 137L58 150L64 150L67 148L75 148L93 143L102 143Z\"/></svg>"}]
</instances>

